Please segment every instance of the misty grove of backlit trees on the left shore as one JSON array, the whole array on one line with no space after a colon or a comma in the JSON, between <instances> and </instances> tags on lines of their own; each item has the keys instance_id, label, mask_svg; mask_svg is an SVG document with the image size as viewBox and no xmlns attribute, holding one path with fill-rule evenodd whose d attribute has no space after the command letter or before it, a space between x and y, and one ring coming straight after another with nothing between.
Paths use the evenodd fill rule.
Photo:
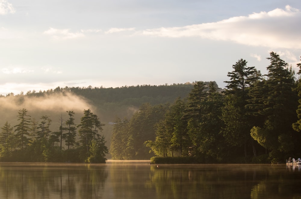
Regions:
<instances>
[{"instance_id":1,"label":"misty grove of backlit trees on the left shore","mask_svg":"<svg viewBox=\"0 0 301 199\"><path fill-rule=\"evenodd\" d=\"M26 109L20 109L17 125L8 121L0 132L0 161L10 162L86 162L104 163L108 148L100 135L102 124L90 109L83 111L79 124L73 111L68 119L60 118L57 131L52 131L51 117L31 118ZM77 139L78 138L78 139Z\"/></svg>"}]
</instances>

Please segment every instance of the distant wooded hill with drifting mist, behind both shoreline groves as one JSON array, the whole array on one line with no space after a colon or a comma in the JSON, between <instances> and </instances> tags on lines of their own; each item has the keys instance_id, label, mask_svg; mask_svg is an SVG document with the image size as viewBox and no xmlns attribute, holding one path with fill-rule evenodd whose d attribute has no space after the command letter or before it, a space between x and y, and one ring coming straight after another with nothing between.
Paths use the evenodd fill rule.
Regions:
<instances>
[{"instance_id":1,"label":"distant wooded hill with drifting mist, behind both shoreline groves","mask_svg":"<svg viewBox=\"0 0 301 199\"><path fill-rule=\"evenodd\" d=\"M204 82L209 84L209 82ZM215 83L216 84L216 83ZM91 109L105 124L101 134L110 145L112 121L119 118L131 118L143 103L151 105L173 103L176 98L185 98L193 89L193 83L172 85L137 85L116 88L104 87L57 87L47 91L28 91L26 94L0 96L0 126L8 121L11 126L18 123L17 112L27 109L31 118L40 122L43 115L51 117L51 130L57 131L59 121L67 120L67 111L75 112L75 124L80 123L84 109ZM217 85L216 85L217 86ZM221 89L222 90L222 89Z\"/></svg>"}]
</instances>

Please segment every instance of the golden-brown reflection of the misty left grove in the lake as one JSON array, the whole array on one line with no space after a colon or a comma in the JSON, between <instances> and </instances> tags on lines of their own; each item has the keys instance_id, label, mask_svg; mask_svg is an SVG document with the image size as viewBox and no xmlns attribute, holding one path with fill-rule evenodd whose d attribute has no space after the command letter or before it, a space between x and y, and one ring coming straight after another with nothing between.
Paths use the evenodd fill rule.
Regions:
<instances>
[{"instance_id":1,"label":"golden-brown reflection of the misty left grove in the lake","mask_svg":"<svg viewBox=\"0 0 301 199\"><path fill-rule=\"evenodd\" d=\"M105 166L1 164L0 198L92 198L102 195L106 178Z\"/></svg>"}]
</instances>

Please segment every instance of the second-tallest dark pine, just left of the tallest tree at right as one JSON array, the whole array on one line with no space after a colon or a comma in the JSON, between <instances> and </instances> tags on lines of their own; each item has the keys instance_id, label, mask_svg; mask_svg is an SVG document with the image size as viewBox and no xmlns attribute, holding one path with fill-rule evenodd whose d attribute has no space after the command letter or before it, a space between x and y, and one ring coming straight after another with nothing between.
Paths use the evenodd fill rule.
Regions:
<instances>
[{"instance_id":1,"label":"second-tallest dark pine, just left of the tallest tree at right","mask_svg":"<svg viewBox=\"0 0 301 199\"><path fill-rule=\"evenodd\" d=\"M238 60L232 68L234 70L228 72L227 75L230 81L225 81L227 83L226 102L221 117L225 127L221 132L229 148L244 145L244 155L247 157L247 145L252 145L254 156L256 156L253 139L250 136L250 129L254 124L245 105L250 98L248 95L250 88L261 79L261 74L254 66L247 66L247 61L243 59Z\"/></svg>"}]
</instances>

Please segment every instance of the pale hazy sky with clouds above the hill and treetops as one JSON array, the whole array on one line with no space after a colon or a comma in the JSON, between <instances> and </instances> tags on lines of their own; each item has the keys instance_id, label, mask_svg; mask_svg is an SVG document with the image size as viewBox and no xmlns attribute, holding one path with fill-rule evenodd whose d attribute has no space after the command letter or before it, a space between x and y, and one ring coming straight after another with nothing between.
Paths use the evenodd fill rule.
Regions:
<instances>
[{"instance_id":1,"label":"pale hazy sky with clouds above the hill and treetops","mask_svg":"<svg viewBox=\"0 0 301 199\"><path fill-rule=\"evenodd\" d=\"M299 0L0 0L0 94L216 81L269 52L296 67Z\"/></svg>"}]
</instances>

